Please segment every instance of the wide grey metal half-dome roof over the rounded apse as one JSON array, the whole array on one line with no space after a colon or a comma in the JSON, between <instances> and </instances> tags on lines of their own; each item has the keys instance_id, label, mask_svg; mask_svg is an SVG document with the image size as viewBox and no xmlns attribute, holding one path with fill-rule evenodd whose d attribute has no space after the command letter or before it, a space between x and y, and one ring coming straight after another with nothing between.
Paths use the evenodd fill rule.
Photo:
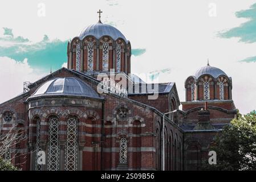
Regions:
<instances>
[{"instance_id":1,"label":"wide grey metal half-dome roof over the rounded apse","mask_svg":"<svg viewBox=\"0 0 256 182\"><path fill-rule=\"evenodd\" d=\"M75 77L54 78L53 80L47 81L32 94L32 97L46 95L70 95L99 98L94 89Z\"/></svg>"}]
</instances>

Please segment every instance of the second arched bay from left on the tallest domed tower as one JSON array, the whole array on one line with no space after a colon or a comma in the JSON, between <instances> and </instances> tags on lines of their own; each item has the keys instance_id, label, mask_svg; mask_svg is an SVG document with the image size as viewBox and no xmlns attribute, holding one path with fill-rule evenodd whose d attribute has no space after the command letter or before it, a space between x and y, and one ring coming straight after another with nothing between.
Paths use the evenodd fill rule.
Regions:
<instances>
[{"instance_id":1,"label":"second arched bay from left on the tallest domed tower","mask_svg":"<svg viewBox=\"0 0 256 182\"><path fill-rule=\"evenodd\" d=\"M97 63L98 43L98 40L92 35L88 35L82 40L83 71L85 72L99 70L99 63Z\"/></svg>"}]
</instances>

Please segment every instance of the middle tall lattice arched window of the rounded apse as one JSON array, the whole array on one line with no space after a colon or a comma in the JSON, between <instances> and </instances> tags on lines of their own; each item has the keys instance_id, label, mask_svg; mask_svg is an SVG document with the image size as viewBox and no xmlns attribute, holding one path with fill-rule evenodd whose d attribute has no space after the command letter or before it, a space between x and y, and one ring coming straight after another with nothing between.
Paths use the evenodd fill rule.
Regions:
<instances>
[{"instance_id":1,"label":"middle tall lattice arched window of the rounded apse","mask_svg":"<svg viewBox=\"0 0 256 182\"><path fill-rule=\"evenodd\" d=\"M48 171L59 170L59 121L56 117L49 119Z\"/></svg>"}]
</instances>

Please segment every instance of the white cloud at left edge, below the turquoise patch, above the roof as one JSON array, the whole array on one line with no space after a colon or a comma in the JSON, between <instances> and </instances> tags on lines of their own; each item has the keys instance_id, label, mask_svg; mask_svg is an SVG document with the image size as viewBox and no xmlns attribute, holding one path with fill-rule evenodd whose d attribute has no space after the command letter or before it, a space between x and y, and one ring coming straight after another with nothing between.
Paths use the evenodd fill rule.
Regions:
<instances>
[{"instance_id":1,"label":"white cloud at left edge, below the turquoise patch, above the roof","mask_svg":"<svg viewBox=\"0 0 256 182\"><path fill-rule=\"evenodd\" d=\"M22 93L23 82L34 82L45 75L46 73L32 69L27 59L19 62L10 57L0 57L0 103Z\"/></svg>"}]
</instances>

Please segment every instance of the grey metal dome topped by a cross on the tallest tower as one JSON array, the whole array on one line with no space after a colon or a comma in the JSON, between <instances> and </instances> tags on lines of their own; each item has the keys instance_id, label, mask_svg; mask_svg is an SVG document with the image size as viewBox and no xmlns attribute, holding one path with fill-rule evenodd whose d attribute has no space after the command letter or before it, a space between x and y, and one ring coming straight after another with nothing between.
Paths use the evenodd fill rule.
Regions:
<instances>
[{"instance_id":1,"label":"grey metal dome topped by a cross on the tallest tower","mask_svg":"<svg viewBox=\"0 0 256 182\"><path fill-rule=\"evenodd\" d=\"M104 35L110 36L114 40L122 38L124 39L125 43L127 43L125 36L119 30L109 24L104 24L100 22L96 24L91 24L87 28L84 28L84 30L79 35L79 39L82 40L88 35L95 36L96 39L100 39L101 36Z\"/></svg>"}]
</instances>

